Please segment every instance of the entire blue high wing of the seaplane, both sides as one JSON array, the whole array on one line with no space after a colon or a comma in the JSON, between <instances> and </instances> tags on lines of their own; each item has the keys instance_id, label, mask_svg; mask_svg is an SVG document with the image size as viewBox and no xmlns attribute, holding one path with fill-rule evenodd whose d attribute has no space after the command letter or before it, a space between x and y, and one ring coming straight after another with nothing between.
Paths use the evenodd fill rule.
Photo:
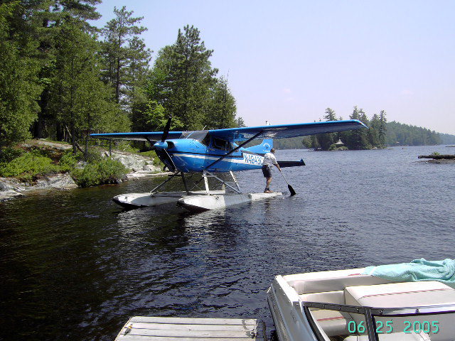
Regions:
<instances>
[{"instance_id":1,"label":"entire blue high wing of the seaplane, both sides","mask_svg":"<svg viewBox=\"0 0 455 341\"><path fill-rule=\"evenodd\" d=\"M367 128L367 126L356 119L348 119L343 121L280 124L277 126L248 126L245 128L213 129L209 130L208 133L211 136L228 141L245 141L256 134L259 134L257 139L284 139L287 137L332 133L360 128ZM196 136L204 133L206 134L207 131L169 131L167 139L197 139ZM163 131L90 134L90 136L96 139L160 141L161 136L163 136Z\"/></svg>"}]
</instances>

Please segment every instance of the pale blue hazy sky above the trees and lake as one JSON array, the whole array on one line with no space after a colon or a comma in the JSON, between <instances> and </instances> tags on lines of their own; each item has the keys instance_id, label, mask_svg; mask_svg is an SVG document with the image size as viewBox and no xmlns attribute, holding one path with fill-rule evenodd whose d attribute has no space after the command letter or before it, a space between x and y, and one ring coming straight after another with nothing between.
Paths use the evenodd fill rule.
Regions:
<instances>
[{"instance_id":1,"label":"pale blue hazy sky above the trees and lake","mask_svg":"<svg viewBox=\"0 0 455 341\"><path fill-rule=\"evenodd\" d=\"M319 121L326 108L455 134L455 1L105 0L126 6L146 46L198 28L247 126Z\"/></svg>"}]
</instances>

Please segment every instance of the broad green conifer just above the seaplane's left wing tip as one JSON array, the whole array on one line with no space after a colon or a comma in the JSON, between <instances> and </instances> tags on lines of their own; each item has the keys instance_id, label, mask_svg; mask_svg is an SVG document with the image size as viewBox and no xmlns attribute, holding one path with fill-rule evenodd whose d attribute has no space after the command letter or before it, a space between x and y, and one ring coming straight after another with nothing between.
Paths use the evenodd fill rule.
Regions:
<instances>
[{"instance_id":1,"label":"broad green conifer just above the seaplane's left wing tip","mask_svg":"<svg viewBox=\"0 0 455 341\"><path fill-rule=\"evenodd\" d=\"M81 23L75 19L67 20L55 37L55 77L50 103L58 121L68 129L74 153L79 137L85 136L87 153L92 129L111 120L109 117L119 116L118 107L107 101L109 88L99 78L98 46L95 37L82 31ZM119 125L128 128L124 122Z\"/></svg>"}]
</instances>

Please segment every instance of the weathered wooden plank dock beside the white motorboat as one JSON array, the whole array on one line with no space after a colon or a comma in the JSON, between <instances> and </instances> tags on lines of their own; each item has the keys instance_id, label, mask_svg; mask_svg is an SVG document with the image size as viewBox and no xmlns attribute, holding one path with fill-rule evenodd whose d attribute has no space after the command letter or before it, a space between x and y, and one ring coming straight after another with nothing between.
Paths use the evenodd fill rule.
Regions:
<instances>
[{"instance_id":1,"label":"weathered wooden plank dock beside the white motorboat","mask_svg":"<svg viewBox=\"0 0 455 341\"><path fill-rule=\"evenodd\" d=\"M241 318L130 318L115 341L267 341L261 320Z\"/></svg>"}]
</instances>

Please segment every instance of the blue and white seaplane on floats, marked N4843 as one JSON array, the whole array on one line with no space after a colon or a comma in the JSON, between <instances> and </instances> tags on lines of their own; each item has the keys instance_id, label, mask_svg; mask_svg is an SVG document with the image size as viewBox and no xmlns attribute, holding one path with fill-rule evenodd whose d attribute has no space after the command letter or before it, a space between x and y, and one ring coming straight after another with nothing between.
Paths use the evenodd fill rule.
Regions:
<instances>
[{"instance_id":1,"label":"blue and white seaplane on floats, marked N4843","mask_svg":"<svg viewBox=\"0 0 455 341\"><path fill-rule=\"evenodd\" d=\"M243 202L276 197L282 193L242 193L233 172L262 168L264 154L273 147L273 139L324 134L366 128L362 122L350 119L319 121L300 124L250 126L241 128L212 129L201 131L170 131L172 117L168 118L164 131L91 134L92 138L108 140L148 141L156 155L171 174L166 180L147 193L127 193L112 198L122 207L136 208L176 202L192 212L215 210ZM247 146L253 140L262 143ZM280 168L305 166L300 161L278 161ZM190 187L188 175L202 175ZM219 173L228 173L232 180L225 180ZM168 181L178 177L184 191L158 192ZM284 175L283 175L284 177ZM210 190L208 178L222 183L222 190ZM284 177L284 180L286 178ZM203 181L204 188L194 190ZM287 180L286 180L287 182ZM288 183L291 195L296 194Z\"/></svg>"}]
</instances>

